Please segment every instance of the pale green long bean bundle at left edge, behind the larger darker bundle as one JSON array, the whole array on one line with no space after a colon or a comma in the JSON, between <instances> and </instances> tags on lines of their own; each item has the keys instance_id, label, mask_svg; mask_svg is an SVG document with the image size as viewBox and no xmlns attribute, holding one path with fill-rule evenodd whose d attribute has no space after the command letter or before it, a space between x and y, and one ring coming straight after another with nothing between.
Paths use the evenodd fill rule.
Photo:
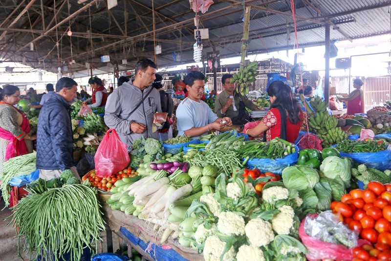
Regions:
<instances>
[{"instance_id":1,"label":"pale green long bean bundle at left edge, behind the larger darker bundle","mask_svg":"<svg viewBox=\"0 0 391 261\"><path fill-rule=\"evenodd\" d=\"M15 158L11 158L3 163L0 171L1 180L1 195L4 199L5 207L9 206L9 199L11 197L11 187L8 183L12 178L21 175L28 175L37 169L35 166L35 159L37 153L29 153Z\"/></svg>"}]
</instances>

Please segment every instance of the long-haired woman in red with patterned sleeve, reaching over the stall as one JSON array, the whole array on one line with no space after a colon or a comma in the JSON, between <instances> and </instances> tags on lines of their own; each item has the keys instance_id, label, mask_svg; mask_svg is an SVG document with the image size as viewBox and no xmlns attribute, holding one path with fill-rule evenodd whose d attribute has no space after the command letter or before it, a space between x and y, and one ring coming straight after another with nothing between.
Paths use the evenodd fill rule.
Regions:
<instances>
[{"instance_id":1,"label":"long-haired woman in red with patterned sleeve, reaching over the stall","mask_svg":"<svg viewBox=\"0 0 391 261\"><path fill-rule=\"evenodd\" d=\"M264 141L270 141L278 137L287 142L294 143L299 136L300 127L303 124L303 112L299 101L292 97L292 90L282 81L274 81L270 84L267 95L270 97L270 110L260 123L246 134L257 137L266 132Z\"/></svg>"}]
</instances>

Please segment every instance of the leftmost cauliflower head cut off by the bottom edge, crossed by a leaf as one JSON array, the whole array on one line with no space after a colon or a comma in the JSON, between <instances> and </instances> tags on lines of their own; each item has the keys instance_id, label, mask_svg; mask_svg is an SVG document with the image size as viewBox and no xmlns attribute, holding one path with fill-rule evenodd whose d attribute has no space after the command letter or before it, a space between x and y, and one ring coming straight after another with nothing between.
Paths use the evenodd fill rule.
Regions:
<instances>
[{"instance_id":1,"label":"leftmost cauliflower head cut off by the bottom edge, crossed by a leaf","mask_svg":"<svg viewBox=\"0 0 391 261\"><path fill-rule=\"evenodd\" d=\"M204 259L205 261L220 261L220 256L223 253L225 242L220 241L220 239L215 236L209 236L205 240L204 247ZM227 253L224 254L224 261L234 261L236 256L236 252L234 246L228 250Z\"/></svg>"}]
</instances>

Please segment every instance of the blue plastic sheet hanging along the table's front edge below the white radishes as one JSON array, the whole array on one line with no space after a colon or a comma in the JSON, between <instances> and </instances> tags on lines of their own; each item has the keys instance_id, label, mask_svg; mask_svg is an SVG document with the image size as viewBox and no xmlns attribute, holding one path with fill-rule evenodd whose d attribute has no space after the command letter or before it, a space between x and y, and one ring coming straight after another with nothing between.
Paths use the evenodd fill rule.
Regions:
<instances>
[{"instance_id":1,"label":"blue plastic sheet hanging along the table's front edge below the white radishes","mask_svg":"<svg viewBox=\"0 0 391 261\"><path fill-rule=\"evenodd\" d=\"M130 242L132 242L134 245L138 245L142 249L147 249L148 247L148 242L144 242L140 238L134 236L131 234L126 228L121 227L120 231L122 234L124 234L125 237L127 237ZM184 257L179 255L178 252L176 252L174 249L167 249L164 250L161 246L152 244L152 250L150 255L158 261L187 261Z\"/></svg>"}]
</instances>

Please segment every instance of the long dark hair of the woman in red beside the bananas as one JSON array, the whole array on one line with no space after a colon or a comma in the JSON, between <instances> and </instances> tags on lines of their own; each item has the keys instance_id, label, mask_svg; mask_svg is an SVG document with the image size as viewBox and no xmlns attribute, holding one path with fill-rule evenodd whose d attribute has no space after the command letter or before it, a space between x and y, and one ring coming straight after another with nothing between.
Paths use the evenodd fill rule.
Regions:
<instances>
[{"instance_id":1,"label":"long dark hair of the woman in red beside the bananas","mask_svg":"<svg viewBox=\"0 0 391 261\"><path fill-rule=\"evenodd\" d=\"M289 86L287 86L284 82L272 82L267 89L267 95L276 97L276 100L272 103L270 108L281 106L285 111L288 112L288 118L292 124L296 124L299 121L302 121L302 119L299 117L301 112L299 101L292 96L292 89L289 88Z\"/></svg>"}]
</instances>

